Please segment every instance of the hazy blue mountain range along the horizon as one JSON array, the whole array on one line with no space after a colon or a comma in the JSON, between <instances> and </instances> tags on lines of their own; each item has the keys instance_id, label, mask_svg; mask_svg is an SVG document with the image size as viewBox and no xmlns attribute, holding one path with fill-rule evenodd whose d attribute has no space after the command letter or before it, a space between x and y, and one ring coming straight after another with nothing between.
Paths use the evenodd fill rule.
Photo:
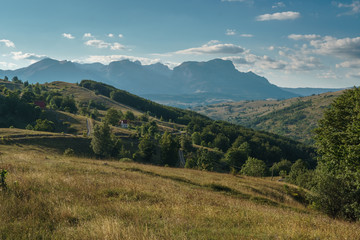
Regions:
<instances>
[{"instance_id":1,"label":"hazy blue mountain range along the horizon","mask_svg":"<svg viewBox=\"0 0 360 240\"><path fill-rule=\"evenodd\" d=\"M271 84L253 72L239 72L229 60L184 62L173 70L156 63L115 61L80 64L46 58L17 70L0 70L0 76L17 76L30 83L91 79L173 106L224 101L287 99L301 94Z\"/></svg>"}]
</instances>

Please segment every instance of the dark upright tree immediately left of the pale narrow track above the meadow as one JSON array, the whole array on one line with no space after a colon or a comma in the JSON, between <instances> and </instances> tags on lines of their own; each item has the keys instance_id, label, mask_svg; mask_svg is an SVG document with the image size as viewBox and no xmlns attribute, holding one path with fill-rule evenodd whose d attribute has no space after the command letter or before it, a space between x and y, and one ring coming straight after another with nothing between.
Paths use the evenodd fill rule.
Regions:
<instances>
[{"instance_id":1,"label":"dark upright tree immediately left of the pale narrow track above the meadow","mask_svg":"<svg viewBox=\"0 0 360 240\"><path fill-rule=\"evenodd\" d=\"M170 133L165 132L160 139L161 163L175 166L178 162L178 143Z\"/></svg>"}]
</instances>

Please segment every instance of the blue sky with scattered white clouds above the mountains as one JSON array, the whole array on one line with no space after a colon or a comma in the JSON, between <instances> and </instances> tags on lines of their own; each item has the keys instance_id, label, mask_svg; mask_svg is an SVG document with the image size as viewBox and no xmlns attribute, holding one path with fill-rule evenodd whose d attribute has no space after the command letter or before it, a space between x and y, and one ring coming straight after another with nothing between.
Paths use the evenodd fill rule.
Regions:
<instances>
[{"instance_id":1,"label":"blue sky with scattered white clouds above the mountains","mask_svg":"<svg viewBox=\"0 0 360 240\"><path fill-rule=\"evenodd\" d=\"M0 69L221 58L281 87L360 86L359 0L1 0ZM1 76L0 76L1 77Z\"/></svg>"}]
</instances>

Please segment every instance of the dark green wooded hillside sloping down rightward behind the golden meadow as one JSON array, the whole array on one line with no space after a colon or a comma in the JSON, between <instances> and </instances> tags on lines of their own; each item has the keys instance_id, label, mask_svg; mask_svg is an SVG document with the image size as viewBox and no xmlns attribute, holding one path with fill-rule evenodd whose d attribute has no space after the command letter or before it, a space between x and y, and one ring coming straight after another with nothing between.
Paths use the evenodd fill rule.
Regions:
<instances>
[{"instance_id":1,"label":"dark green wooded hillside sloping down rightward behind the golden meadow","mask_svg":"<svg viewBox=\"0 0 360 240\"><path fill-rule=\"evenodd\" d=\"M16 110L7 111L8 115L1 118L2 127L78 135L88 132L86 135L91 136L86 126L92 119L92 148L98 157L179 166L181 149L182 164L189 168L239 172L248 158L256 158L264 164L264 176L283 159L292 163L302 159L309 168L316 165L314 150L299 142L162 106L95 81L84 80L80 85L22 83L13 91L3 86L1 95L2 111L7 111L7 103L12 101L36 113L27 117ZM122 119L129 121L128 128L120 127Z\"/></svg>"}]
</instances>

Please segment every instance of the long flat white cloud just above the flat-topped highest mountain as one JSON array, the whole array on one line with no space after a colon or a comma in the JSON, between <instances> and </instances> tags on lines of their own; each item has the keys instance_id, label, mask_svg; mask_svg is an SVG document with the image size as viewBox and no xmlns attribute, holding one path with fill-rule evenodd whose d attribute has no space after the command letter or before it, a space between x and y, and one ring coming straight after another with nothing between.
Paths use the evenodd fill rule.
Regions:
<instances>
[{"instance_id":1,"label":"long flat white cloud just above the flat-topped highest mountain","mask_svg":"<svg viewBox=\"0 0 360 240\"><path fill-rule=\"evenodd\" d=\"M221 44L218 41L210 41L207 44L202 45L197 48L188 48L184 50L177 51L177 54L238 54L244 52L244 48L234 45L234 44Z\"/></svg>"}]
</instances>

